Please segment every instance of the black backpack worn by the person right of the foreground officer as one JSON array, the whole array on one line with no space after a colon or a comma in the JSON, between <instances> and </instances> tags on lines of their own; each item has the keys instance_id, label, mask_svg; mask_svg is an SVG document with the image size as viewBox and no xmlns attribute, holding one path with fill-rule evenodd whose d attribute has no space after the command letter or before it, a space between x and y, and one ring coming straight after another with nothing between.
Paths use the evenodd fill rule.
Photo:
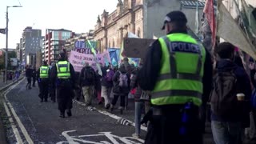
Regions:
<instances>
[{"instance_id":1,"label":"black backpack worn by the person right of the foreground officer","mask_svg":"<svg viewBox=\"0 0 256 144\"><path fill-rule=\"evenodd\" d=\"M238 88L234 70L218 72L214 76L214 87L210 94L211 110L215 115L235 114L238 106Z\"/></svg>"}]
</instances>

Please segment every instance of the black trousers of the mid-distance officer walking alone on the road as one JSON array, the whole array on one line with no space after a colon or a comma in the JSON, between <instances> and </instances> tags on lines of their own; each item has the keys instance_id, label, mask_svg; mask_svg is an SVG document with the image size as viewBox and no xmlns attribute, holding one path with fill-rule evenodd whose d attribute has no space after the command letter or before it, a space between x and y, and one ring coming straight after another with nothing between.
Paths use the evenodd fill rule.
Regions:
<instances>
[{"instance_id":1,"label":"black trousers of the mid-distance officer walking alone on the road","mask_svg":"<svg viewBox=\"0 0 256 144\"><path fill-rule=\"evenodd\" d=\"M57 100L58 100L58 110L62 113L66 109L72 109L72 94L70 86L58 86L56 90Z\"/></svg>"}]
</instances>

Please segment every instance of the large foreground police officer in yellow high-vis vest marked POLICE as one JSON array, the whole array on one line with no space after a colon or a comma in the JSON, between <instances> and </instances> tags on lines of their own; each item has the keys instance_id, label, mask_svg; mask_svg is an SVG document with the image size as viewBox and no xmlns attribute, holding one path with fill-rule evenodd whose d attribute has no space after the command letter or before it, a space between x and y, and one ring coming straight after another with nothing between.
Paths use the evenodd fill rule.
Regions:
<instances>
[{"instance_id":1,"label":"large foreground police officer in yellow high-vis vest marked POLICE","mask_svg":"<svg viewBox=\"0 0 256 144\"><path fill-rule=\"evenodd\" d=\"M158 38L138 74L142 90L150 91L150 126L145 143L202 144L199 107L206 103L212 83L207 50L187 34L186 15L166 14Z\"/></svg>"}]
</instances>

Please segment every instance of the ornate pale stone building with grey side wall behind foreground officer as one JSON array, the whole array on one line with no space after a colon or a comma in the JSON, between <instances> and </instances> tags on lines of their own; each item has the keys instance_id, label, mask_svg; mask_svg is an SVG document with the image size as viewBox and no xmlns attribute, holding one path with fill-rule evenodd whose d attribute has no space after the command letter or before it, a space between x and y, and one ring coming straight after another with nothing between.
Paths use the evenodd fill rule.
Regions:
<instances>
[{"instance_id":1,"label":"ornate pale stone building with grey side wall behind foreground officer","mask_svg":"<svg viewBox=\"0 0 256 144\"><path fill-rule=\"evenodd\" d=\"M172 10L182 10L188 18L188 26L195 29L197 3L194 0L118 0L117 9L110 13L103 10L94 27L94 40L100 41L101 50L120 48L128 32L139 38L164 35L161 30L164 18ZM198 2L199 18L204 2Z\"/></svg>"}]
</instances>

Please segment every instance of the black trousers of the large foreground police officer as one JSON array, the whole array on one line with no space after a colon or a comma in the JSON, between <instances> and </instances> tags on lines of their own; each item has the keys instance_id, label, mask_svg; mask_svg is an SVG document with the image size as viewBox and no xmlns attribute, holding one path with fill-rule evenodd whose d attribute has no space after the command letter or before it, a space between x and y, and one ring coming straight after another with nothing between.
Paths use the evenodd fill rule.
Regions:
<instances>
[{"instance_id":1,"label":"black trousers of the large foreground police officer","mask_svg":"<svg viewBox=\"0 0 256 144\"><path fill-rule=\"evenodd\" d=\"M150 125L146 134L146 144L202 144L202 130L198 118L198 108L190 113L193 122L186 125L186 134L180 132L183 106L164 108L162 114L151 115ZM153 108L154 110L154 108ZM191 118L191 117L190 117Z\"/></svg>"}]
</instances>

